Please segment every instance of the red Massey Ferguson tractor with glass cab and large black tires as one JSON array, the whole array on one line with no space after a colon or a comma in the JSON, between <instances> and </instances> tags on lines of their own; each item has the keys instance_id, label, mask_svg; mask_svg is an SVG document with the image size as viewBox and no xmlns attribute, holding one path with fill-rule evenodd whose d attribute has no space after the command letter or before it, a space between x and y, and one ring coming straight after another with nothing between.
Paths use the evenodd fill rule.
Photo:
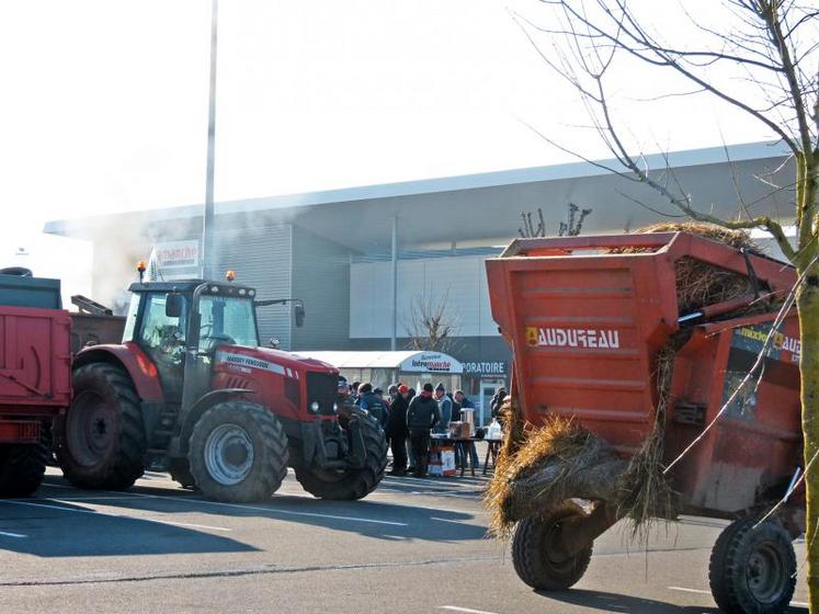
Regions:
<instances>
[{"instance_id":1,"label":"red Massey Ferguson tractor with glass cab and large black tires","mask_svg":"<svg viewBox=\"0 0 819 614\"><path fill-rule=\"evenodd\" d=\"M361 499L386 466L372 417L337 403L338 371L259 346L251 287L202 280L132 284L122 344L83 349L55 423L71 484L130 487L146 467L219 501L258 501L287 467L308 492ZM303 316L297 311L297 320Z\"/></svg>"}]
</instances>

